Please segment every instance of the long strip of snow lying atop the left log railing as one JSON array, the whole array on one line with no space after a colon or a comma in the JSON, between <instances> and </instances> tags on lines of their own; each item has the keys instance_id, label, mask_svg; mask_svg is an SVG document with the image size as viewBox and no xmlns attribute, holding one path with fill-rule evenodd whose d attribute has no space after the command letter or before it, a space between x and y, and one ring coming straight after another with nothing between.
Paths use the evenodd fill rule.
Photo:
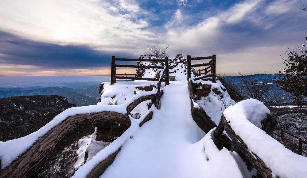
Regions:
<instances>
[{"instance_id":1,"label":"long strip of snow lying atop the left log railing","mask_svg":"<svg viewBox=\"0 0 307 178\"><path fill-rule=\"evenodd\" d=\"M58 114L54 117L49 123L47 123L44 127L41 127L38 131L33 132L25 137L17 138L14 140L8 140L6 142L0 141L0 159L1 159L1 168L5 168L6 166L10 165L12 161L17 159L19 155L24 153L28 150L39 138L45 135L48 131L50 131L53 127L67 119L69 116L74 116L77 114L90 114L95 112L118 112L125 114L126 107L132 103L134 100L138 99L139 97L155 94L157 93L157 89L154 88L152 91L140 91L131 99L121 105L90 105L90 106L82 106L76 108L68 108L65 111Z\"/></svg>"}]
</instances>

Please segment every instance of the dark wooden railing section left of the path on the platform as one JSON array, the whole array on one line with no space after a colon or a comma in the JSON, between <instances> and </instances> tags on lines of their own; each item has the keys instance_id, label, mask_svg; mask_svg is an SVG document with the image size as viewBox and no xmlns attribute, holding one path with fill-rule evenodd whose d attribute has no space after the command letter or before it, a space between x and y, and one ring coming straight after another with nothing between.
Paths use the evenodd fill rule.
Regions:
<instances>
[{"instance_id":1,"label":"dark wooden railing section left of the path on the platform","mask_svg":"<svg viewBox=\"0 0 307 178\"><path fill-rule=\"evenodd\" d=\"M164 66L122 65L122 64L116 64L115 61L164 62ZM117 76L117 75L124 75L124 74L116 74L117 67L148 68L148 69L164 69L164 67L166 67L165 79L162 79L162 81L165 81L165 85L169 85L169 58L168 57L165 57L165 59L126 59L126 58L115 58L115 56L112 56L111 58L111 85L116 83L116 79L124 79L126 81L128 80L158 81L159 79L157 78L139 78L136 76L134 77Z\"/></svg>"}]
</instances>

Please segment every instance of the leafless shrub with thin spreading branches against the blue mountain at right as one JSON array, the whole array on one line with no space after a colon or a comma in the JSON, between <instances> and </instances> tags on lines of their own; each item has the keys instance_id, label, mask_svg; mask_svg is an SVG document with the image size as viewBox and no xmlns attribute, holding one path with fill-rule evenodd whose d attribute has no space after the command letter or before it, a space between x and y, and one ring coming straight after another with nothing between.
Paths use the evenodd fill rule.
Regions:
<instances>
[{"instance_id":1,"label":"leafless shrub with thin spreading branches against the blue mountain at right","mask_svg":"<svg viewBox=\"0 0 307 178\"><path fill-rule=\"evenodd\" d=\"M251 78L247 78L241 73L239 74L243 82L243 87L247 90L249 97L264 101L263 94L269 89L269 82L266 80L259 82L255 75L252 75Z\"/></svg>"}]
</instances>

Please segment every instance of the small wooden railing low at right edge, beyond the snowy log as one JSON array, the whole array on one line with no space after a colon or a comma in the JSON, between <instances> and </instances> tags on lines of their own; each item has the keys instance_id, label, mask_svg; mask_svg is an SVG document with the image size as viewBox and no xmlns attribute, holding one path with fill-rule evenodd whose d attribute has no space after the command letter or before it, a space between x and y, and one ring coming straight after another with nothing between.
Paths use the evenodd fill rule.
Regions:
<instances>
[{"instance_id":1,"label":"small wooden railing low at right edge, beyond the snowy log","mask_svg":"<svg viewBox=\"0 0 307 178\"><path fill-rule=\"evenodd\" d=\"M302 138L299 138L293 134L290 134L287 131L282 130L281 128L276 128L275 130L279 130L280 131L280 135L273 133L274 135L278 136L279 138L281 138L281 142L283 145L287 145L289 144L292 148L294 148L295 150L297 149L297 154L299 155L303 155L303 153L305 154L305 156L307 156L307 152L305 150L303 150L303 144L307 144L307 141L303 140ZM290 140L288 140L285 137L285 133L290 135L291 137L295 138L298 140L298 145L296 145L295 143L291 142Z\"/></svg>"}]
</instances>

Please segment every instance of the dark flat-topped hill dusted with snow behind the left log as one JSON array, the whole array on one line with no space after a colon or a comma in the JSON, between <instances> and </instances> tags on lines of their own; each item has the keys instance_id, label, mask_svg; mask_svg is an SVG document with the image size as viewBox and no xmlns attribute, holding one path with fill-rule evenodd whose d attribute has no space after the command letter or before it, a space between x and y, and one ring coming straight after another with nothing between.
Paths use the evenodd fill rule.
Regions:
<instances>
[{"instance_id":1,"label":"dark flat-topped hill dusted with snow behind the left log","mask_svg":"<svg viewBox=\"0 0 307 178\"><path fill-rule=\"evenodd\" d=\"M56 95L0 98L0 140L11 140L35 132L71 107L76 105Z\"/></svg>"}]
</instances>

